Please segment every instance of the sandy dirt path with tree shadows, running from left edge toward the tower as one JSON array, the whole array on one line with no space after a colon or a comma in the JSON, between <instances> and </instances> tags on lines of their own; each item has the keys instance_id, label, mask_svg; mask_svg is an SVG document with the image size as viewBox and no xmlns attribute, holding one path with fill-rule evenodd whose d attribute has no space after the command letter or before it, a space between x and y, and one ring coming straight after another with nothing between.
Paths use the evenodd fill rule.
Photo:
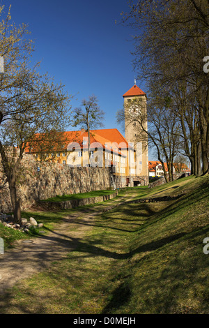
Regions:
<instances>
[{"instance_id":1,"label":"sandy dirt path with tree shadows, running from left edge toward the tower","mask_svg":"<svg viewBox=\"0 0 209 328\"><path fill-rule=\"evenodd\" d=\"M0 294L18 281L46 269L52 261L65 258L77 248L86 230L92 228L94 217L101 214L104 207L131 200L132 197L118 197L117 200L93 207L93 211L88 208L87 212L83 209L72 212L49 234L17 241L13 249L0 254Z\"/></svg>"}]
</instances>

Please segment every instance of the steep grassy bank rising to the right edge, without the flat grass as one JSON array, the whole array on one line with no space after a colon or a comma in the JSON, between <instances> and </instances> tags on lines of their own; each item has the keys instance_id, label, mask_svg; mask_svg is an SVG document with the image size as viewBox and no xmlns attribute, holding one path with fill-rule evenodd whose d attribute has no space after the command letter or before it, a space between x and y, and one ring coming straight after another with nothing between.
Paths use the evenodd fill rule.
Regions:
<instances>
[{"instance_id":1,"label":"steep grassy bank rising to the right edge, without the flat grass","mask_svg":"<svg viewBox=\"0 0 209 328\"><path fill-rule=\"evenodd\" d=\"M171 188L176 182L169 184L166 193L186 195L153 213L133 234L122 289L114 292L116 298L122 292L126 301L112 299L107 312L209 313L209 255L203 253L203 239L209 236L209 179L185 182L178 188ZM159 188L157 196L164 194Z\"/></svg>"}]
</instances>

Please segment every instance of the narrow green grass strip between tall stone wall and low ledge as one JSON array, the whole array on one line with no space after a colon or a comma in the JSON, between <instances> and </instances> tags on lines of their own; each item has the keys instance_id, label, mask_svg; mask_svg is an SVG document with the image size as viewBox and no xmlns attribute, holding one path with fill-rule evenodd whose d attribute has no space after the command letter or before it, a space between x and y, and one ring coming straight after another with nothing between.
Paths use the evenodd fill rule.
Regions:
<instances>
[{"instance_id":1,"label":"narrow green grass strip between tall stone wall and low ledge","mask_svg":"<svg viewBox=\"0 0 209 328\"><path fill-rule=\"evenodd\" d=\"M48 198L47 200L42 200L42 202L64 202L65 200L80 200L82 198L106 196L111 193L116 193L116 191L89 191L88 193L75 193L71 195L57 195L56 197Z\"/></svg>"}]
</instances>

